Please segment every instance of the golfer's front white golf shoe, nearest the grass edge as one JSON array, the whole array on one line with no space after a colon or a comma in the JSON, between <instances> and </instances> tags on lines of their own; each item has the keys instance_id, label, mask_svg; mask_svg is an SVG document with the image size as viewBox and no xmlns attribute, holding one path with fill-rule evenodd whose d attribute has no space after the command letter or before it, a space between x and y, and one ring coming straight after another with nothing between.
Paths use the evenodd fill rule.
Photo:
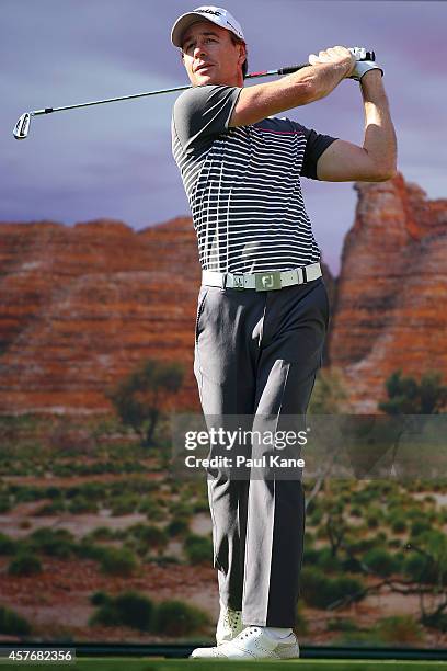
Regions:
<instances>
[{"instance_id":1,"label":"golfer's front white golf shoe, nearest the grass edge","mask_svg":"<svg viewBox=\"0 0 447 671\"><path fill-rule=\"evenodd\" d=\"M194 659L297 659L299 646L295 634L275 639L262 627L245 627L236 638L215 648L196 648L190 656Z\"/></svg>"}]
</instances>

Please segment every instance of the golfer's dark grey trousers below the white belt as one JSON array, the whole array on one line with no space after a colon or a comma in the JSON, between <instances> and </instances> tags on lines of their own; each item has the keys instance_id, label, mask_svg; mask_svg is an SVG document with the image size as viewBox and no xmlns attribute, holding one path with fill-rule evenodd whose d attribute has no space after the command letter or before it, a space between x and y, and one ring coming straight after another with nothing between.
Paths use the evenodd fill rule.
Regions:
<instances>
[{"instance_id":1,"label":"golfer's dark grey trousers below the white belt","mask_svg":"<svg viewBox=\"0 0 447 671\"><path fill-rule=\"evenodd\" d=\"M194 374L205 418L306 417L330 307L322 277L270 292L202 285ZM305 424L306 425L306 424ZM296 624L305 535L298 479L208 477L220 601L245 625Z\"/></svg>"}]
</instances>

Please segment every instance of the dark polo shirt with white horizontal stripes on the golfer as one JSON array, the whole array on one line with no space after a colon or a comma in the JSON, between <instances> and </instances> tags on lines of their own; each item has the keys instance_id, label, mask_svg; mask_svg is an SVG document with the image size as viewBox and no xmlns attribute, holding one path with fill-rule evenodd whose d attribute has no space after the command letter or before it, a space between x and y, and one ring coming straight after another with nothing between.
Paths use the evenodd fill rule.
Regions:
<instances>
[{"instance_id":1,"label":"dark polo shirt with white horizontal stripes on the golfer","mask_svg":"<svg viewBox=\"0 0 447 671\"><path fill-rule=\"evenodd\" d=\"M190 202L204 270L284 271L316 263L320 250L300 175L334 141L288 118L229 127L242 89L193 87L175 101L172 152Z\"/></svg>"}]
</instances>

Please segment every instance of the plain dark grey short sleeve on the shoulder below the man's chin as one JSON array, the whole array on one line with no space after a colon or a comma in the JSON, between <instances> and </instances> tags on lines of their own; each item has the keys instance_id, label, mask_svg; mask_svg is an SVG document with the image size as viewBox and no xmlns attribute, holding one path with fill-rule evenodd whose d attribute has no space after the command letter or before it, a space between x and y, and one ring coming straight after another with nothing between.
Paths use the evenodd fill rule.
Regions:
<instances>
[{"instance_id":1,"label":"plain dark grey short sleeve on the shoulder below the man's chin","mask_svg":"<svg viewBox=\"0 0 447 671\"><path fill-rule=\"evenodd\" d=\"M239 87L192 87L174 103L173 130L183 149L197 149L228 130L232 111L241 92Z\"/></svg>"}]
</instances>

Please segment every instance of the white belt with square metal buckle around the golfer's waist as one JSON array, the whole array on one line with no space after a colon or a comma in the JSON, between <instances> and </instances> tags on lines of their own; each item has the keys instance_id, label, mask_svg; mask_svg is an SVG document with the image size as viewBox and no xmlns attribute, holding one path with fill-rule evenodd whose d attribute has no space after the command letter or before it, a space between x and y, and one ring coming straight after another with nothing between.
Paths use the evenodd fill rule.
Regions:
<instances>
[{"instance_id":1,"label":"white belt with square metal buckle around the golfer's waist","mask_svg":"<svg viewBox=\"0 0 447 671\"><path fill-rule=\"evenodd\" d=\"M267 271L265 273L243 273L239 275L204 270L202 271L202 284L220 286L221 288L252 288L256 292L270 292L283 288L283 286L318 280L321 275L320 263L311 263L290 271Z\"/></svg>"}]
</instances>

